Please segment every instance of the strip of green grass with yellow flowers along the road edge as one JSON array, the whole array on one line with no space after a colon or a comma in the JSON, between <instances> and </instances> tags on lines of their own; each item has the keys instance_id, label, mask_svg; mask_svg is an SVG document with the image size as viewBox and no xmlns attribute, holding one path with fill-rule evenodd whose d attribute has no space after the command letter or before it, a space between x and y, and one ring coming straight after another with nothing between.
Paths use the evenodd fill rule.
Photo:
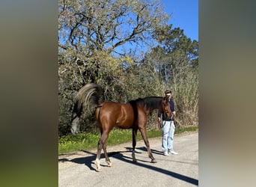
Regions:
<instances>
[{"instance_id":1,"label":"strip of green grass with yellow flowers along the road edge","mask_svg":"<svg viewBox=\"0 0 256 187\"><path fill-rule=\"evenodd\" d=\"M198 126L182 126L175 129L175 134L193 132ZM161 137L161 130L147 130L147 138ZM58 154L70 153L78 150L90 150L97 147L100 139L100 132L83 132L78 135L66 135L58 138ZM137 140L141 140L141 133L138 131ZM132 142L132 129L114 129L109 133L108 146Z\"/></svg>"}]
</instances>

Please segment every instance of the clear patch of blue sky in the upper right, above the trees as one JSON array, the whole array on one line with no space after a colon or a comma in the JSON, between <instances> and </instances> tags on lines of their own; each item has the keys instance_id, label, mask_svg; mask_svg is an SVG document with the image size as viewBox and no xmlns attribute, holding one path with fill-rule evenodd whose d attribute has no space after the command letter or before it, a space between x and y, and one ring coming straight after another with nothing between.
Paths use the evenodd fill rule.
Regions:
<instances>
[{"instance_id":1,"label":"clear patch of blue sky in the upper right, above the trees","mask_svg":"<svg viewBox=\"0 0 256 187\"><path fill-rule=\"evenodd\" d=\"M184 30L187 37L198 40L198 0L162 0L171 15L168 24Z\"/></svg>"}]
</instances>

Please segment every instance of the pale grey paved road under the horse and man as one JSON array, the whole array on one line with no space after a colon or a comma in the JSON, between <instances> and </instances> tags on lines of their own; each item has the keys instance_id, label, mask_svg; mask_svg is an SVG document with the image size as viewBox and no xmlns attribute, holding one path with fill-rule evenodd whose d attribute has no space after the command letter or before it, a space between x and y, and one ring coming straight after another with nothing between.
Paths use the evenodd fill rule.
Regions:
<instances>
[{"instance_id":1,"label":"pale grey paved road under the horse and man","mask_svg":"<svg viewBox=\"0 0 256 187\"><path fill-rule=\"evenodd\" d=\"M107 147L112 168L95 171L96 150L59 156L58 186L198 186L198 132L174 136L178 155L163 156L161 138L150 138L157 163L150 163L143 141L137 142L137 163L132 162L132 142Z\"/></svg>"}]
</instances>

